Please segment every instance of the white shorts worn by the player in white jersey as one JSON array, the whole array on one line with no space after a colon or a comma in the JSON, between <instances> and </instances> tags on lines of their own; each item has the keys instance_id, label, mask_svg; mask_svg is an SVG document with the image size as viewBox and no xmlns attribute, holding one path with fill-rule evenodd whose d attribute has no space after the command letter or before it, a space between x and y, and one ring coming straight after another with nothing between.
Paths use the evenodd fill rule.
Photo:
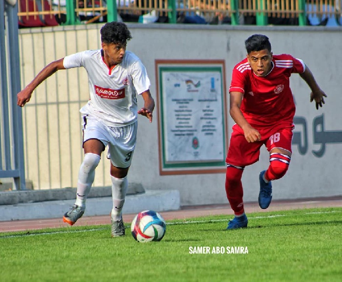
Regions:
<instances>
[{"instance_id":1,"label":"white shorts worn by the player in white jersey","mask_svg":"<svg viewBox=\"0 0 342 282\"><path fill-rule=\"evenodd\" d=\"M97 139L108 145L107 158L121 168L130 166L136 144L138 122L122 126L109 127L88 115L83 117L83 143L89 139Z\"/></svg>"}]
</instances>

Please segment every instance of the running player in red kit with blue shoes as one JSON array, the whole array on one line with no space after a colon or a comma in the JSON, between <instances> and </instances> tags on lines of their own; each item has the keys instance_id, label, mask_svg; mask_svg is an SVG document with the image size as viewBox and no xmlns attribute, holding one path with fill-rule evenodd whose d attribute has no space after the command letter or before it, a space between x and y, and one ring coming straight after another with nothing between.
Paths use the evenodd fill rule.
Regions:
<instances>
[{"instance_id":1,"label":"running player in red kit with blue shoes","mask_svg":"<svg viewBox=\"0 0 342 282\"><path fill-rule=\"evenodd\" d=\"M270 165L259 175L261 209L271 203L271 181L283 177L289 167L296 109L291 74L299 73L308 84L310 102L315 100L317 109L326 97L302 60L287 54L273 55L267 36L252 35L245 47L247 58L234 67L229 89L230 115L236 123L226 159L225 188L235 217L228 222L227 230L247 227L241 177L246 165L259 160L261 146L270 152Z\"/></svg>"}]
</instances>

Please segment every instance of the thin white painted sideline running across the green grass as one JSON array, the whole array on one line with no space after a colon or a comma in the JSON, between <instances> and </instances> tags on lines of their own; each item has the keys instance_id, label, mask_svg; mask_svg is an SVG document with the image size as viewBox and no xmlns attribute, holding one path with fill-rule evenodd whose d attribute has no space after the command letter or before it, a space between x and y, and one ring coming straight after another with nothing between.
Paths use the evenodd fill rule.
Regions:
<instances>
[{"instance_id":1,"label":"thin white painted sideline running across the green grass","mask_svg":"<svg viewBox=\"0 0 342 282\"><path fill-rule=\"evenodd\" d=\"M302 214L321 214L321 213L335 213L335 212L342 212L342 211L312 211L312 212L305 212ZM255 217L248 217L248 219L263 219L263 218L273 218L273 217L280 217L280 216L292 216L294 214L273 214L267 216L255 216ZM198 223L212 223L212 222L226 222L227 219L212 219L212 220L187 220L187 221L176 221L176 222L167 222L167 225L178 225L178 224L198 224ZM130 228L130 225L126 225L126 228ZM25 234L18 234L18 235L5 235L0 236L0 238L16 238L16 237L25 237L25 236L38 236L38 235L54 235L54 234L67 234L67 233L78 233L78 232L93 232L93 231L100 231L106 230L107 228L99 227L87 230L67 230L67 231L53 231L53 232L42 232L42 233L25 233Z\"/></svg>"}]
</instances>

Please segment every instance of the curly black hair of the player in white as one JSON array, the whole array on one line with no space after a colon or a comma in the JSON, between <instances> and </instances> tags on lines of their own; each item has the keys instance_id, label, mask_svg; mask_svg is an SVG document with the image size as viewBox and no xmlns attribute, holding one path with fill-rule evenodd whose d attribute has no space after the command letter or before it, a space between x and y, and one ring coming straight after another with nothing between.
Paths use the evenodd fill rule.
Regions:
<instances>
[{"instance_id":1,"label":"curly black hair of the player in white","mask_svg":"<svg viewBox=\"0 0 342 282\"><path fill-rule=\"evenodd\" d=\"M121 22L110 22L101 27L101 42L126 45L132 38L126 24Z\"/></svg>"}]
</instances>

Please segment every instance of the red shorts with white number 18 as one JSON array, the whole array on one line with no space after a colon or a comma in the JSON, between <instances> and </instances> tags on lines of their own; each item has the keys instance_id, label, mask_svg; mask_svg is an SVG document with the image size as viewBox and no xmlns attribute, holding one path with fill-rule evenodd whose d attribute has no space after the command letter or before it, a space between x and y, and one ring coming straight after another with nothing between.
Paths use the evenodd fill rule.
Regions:
<instances>
[{"instance_id":1,"label":"red shorts with white number 18","mask_svg":"<svg viewBox=\"0 0 342 282\"><path fill-rule=\"evenodd\" d=\"M261 140L249 143L245 139L242 129L235 124L226 163L242 167L256 163L259 160L260 148L263 144L269 152L273 148L281 148L292 153L291 143L294 127L294 125L289 125L281 128L258 128Z\"/></svg>"}]
</instances>

